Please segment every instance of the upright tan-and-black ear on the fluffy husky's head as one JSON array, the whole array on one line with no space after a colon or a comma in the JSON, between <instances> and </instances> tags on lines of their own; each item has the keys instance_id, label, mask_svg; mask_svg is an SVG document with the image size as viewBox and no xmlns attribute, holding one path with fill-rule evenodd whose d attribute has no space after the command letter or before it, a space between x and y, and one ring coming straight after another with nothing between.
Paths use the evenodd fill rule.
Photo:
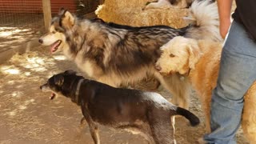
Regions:
<instances>
[{"instance_id":1,"label":"upright tan-and-black ear on the fluffy husky's head","mask_svg":"<svg viewBox=\"0 0 256 144\"><path fill-rule=\"evenodd\" d=\"M75 21L74 16L68 10L64 10L64 9L61 9L60 14L62 14L61 16L62 26L69 29L72 28L74 26L74 21Z\"/></svg>"}]
</instances>

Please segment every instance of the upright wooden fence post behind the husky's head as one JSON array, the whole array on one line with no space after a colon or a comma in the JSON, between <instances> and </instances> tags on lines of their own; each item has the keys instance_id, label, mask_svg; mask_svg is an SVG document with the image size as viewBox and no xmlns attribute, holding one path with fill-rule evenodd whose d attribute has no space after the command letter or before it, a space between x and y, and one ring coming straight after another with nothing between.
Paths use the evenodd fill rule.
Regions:
<instances>
[{"instance_id":1,"label":"upright wooden fence post behind the husky's head","mask_svg":"<svg viewBox=\"0 0 256 144\"><path fill-rule=\"evenodd\" d=\"M42 0L42 12L45 22L45 29L48 30L51 21L50 0Z\"/></svg>"}]
</instances>

